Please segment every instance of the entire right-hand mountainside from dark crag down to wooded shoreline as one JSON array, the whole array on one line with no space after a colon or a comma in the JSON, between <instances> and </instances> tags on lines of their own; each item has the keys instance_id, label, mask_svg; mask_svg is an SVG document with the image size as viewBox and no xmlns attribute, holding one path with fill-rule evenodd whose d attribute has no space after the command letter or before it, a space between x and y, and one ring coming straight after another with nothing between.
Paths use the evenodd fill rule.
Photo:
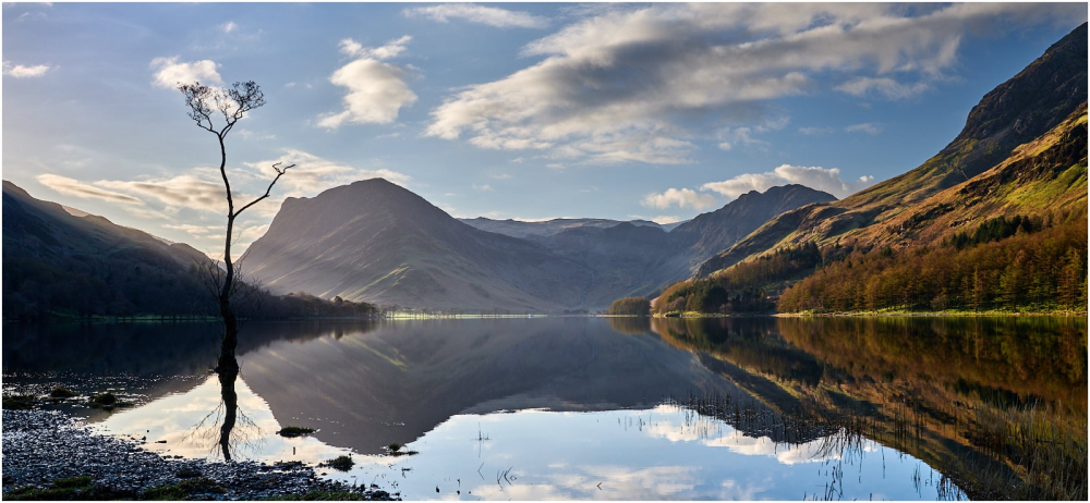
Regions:
<instances>
[{"instance_id":1,"label":"entire right-hand mountainside from dark crag down to wooded shoreline","mask_svg":"<svg viewBox=\"0 0 1090 503\"><path fill-rule=\"evenodd\" d=\"M772 300L803 279L784 294L780 310L1085 309L1078 292L1086 291L1086 42L1083 24L985 95L961 134L924 164L845 199L773 218L704 262L698 279L668 289L664 297L673 298L659 297L656 310L723 311L727 303L717 299L749 291ZM943 245L1015 217L1032 222L1037 240L1053 247L1025 236L976 250ZM755 263L807 246L820 253L753 275ZM925 266L937 277L919 278ZM825 272L811 277L818 270ZM988 292L971 293L981 289ZM834 290L853 300L827 300Z\"/></svg>"}]
</instances>

